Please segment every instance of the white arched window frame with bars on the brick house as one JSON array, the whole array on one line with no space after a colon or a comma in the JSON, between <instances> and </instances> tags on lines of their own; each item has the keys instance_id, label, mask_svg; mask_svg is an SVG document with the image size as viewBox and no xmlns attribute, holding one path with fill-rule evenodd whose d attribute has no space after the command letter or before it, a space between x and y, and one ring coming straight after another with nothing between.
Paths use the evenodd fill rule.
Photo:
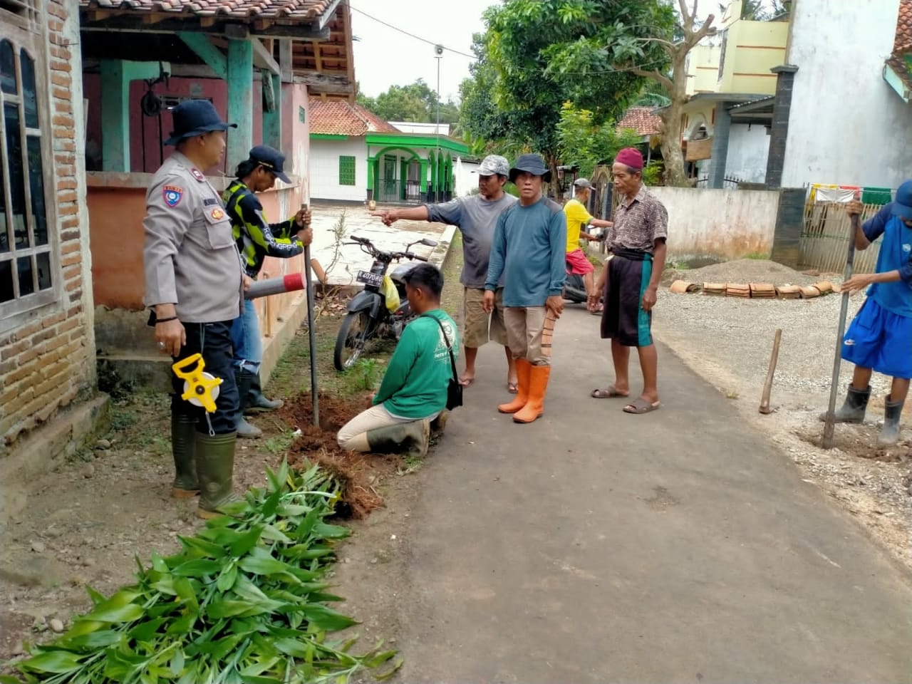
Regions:
<instances>
[{"instance_id":1,"label":"white arched window frame with bars on the brick house","mask_svg":"<svg viewBox=\"0 0 912 684\"><path fill-rule=\"evenodd\" d=\"M19 108L19 119L25 133L21 142L23 151L23 169L26 170L23 182L25 185L26 199L26 224L30 237L29 247L16 249L15 235L10 228L12 212L0 225L0 231L5 231L9 240L9 252L0 253L0 260L11 261L14 289L18 288L17 257L31 256L33 254L49 254L51 286L46 290L38 290L33 294L17 296L16 298L0 303L0 332L14 328L21 324L28 313L36 309L57 304L63 295L63 282L60 269L59 235L57 225L57 182L54 173L54 151L50 125L50 103L47 73L47 22L43 11L44 3L36 0L0 0L0 40L8 40L13 45L17 77L17 95L11 96L0 91L0 164L4 166L3 184L0 192L5 196L5 207L12 209L10 168L6 162L6 130L3 105L16 103ZM10 11L10 7L19 9L18 12ZM22 88L22 70L20 66L21 53L25 49L32 58L35 67L36 107L38 115L38 128L26 126L25 93ZM78 75L74 75L76 77ZM28 139L37 138L41 141L41 167L42 181L45 192L45 213L47 223L47 244L35 244L35 220L32 214L32 189L28 179ZM77 161L78 163L78 161ZM37 274L34 275L37 278Z\"/></svg>"}]
</instances>

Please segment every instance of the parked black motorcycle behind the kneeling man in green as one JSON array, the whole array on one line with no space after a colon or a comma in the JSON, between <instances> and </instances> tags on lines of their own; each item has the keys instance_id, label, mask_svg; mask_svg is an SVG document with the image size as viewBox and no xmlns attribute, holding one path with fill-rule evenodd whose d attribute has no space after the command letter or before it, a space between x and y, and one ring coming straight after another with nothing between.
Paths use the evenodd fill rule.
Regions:
<instances>
[{"instance_id":1,"label":"parked black motorcycle behind the kneeling man in green","mask_svg":"<svg viewBox=\"0 0 912 684\"><path fill-rule=\"evenodd\" d=\"M364 353L368 341L377 337L392 337L399 340L402 330L415 318L409 306L409 299L405 295L404 276L417 264L409 261L399 264L387 278L389 265L399 259L427 261L419 254L409 250L416 244L436 247L437 242L424 238L406 245L404 252L383 252L364 237L352 236L352 241L346 244L357 244L361 251L374 257L369 271L358 271L355 280L364 285L364 289L352 297L348 302L348 313L339 326L336 337L336 349L333 352L333 365L338 371L351 368ZM390 287L395 287L399 296L399 305L392 306L390 310L388 298L393 300Z\"/></svg>"}]
</instances>

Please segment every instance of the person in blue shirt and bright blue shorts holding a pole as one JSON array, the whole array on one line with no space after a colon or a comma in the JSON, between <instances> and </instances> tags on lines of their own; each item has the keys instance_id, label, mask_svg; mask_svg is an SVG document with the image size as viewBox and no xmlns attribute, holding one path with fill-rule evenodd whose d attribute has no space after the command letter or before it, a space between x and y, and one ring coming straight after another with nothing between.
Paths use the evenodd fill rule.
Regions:
<instances>
[{"instance_id":1,"label":"person in blue shirt and bright blue shorts holding a pole","mask_svg":"<svg viewBox=\"0 0 912 684\"><path fill-rule=\"evenodd\" d=\"M860 214L861 202L849 202L846 211ZM883 235L876 273L858 274L843 286L849 292L868 287L867 299L843 339L842 356L855 364L852 384L836 422L865 420L872 371L891 376L884 427L877 441L896 444L899 417L912 378L912 181L896 191L896 200L865 221L855 235L855 249L867 249Z\"/></svg>"}]
</instances>

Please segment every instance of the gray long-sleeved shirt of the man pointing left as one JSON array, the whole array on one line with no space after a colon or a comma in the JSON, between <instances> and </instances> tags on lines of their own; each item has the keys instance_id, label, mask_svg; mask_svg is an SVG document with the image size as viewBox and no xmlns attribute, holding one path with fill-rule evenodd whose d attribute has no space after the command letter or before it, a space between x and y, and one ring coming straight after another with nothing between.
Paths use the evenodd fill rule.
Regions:
<instances>
[{"instance_id":1,"label":"gray long-sleeved shirt of the man pointing left","mask_svg":"<svg viewBox=\"0 0 912 684\"><path fill-rule=\"evenodd\" d=\"M428 221L449 223L462 232L462 285L483 289L497 218L513 202L516 198L504 192L503 197L494 202L485 200L481 195L470 195L441 204L424 205L428 208ZM503 279L500 285L503 286Z\"/></svg>"}]
</instances>

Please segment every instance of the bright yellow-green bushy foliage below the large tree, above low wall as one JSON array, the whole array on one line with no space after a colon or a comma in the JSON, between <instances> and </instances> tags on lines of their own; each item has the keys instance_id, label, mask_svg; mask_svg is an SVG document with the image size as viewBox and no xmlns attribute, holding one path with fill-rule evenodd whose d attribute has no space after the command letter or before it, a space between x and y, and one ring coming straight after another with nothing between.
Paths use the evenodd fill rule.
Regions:
<instances>
[{"instance_id":1,"label":"bright yellow-green bushy foliage below the large tree, above low wall","mask_svg":"<svg viewBox=\"0 0 912 684\"><path fill-rule=\"evenodd\" d=\"M598 123L588 109L565 102L557 123L557 141L561 161L578 164L579 174L591 178L596 164L611 163L618 150L637 146L639 136L634 130L617 130L612 119Z\"/></svg>"}]
</instances>

